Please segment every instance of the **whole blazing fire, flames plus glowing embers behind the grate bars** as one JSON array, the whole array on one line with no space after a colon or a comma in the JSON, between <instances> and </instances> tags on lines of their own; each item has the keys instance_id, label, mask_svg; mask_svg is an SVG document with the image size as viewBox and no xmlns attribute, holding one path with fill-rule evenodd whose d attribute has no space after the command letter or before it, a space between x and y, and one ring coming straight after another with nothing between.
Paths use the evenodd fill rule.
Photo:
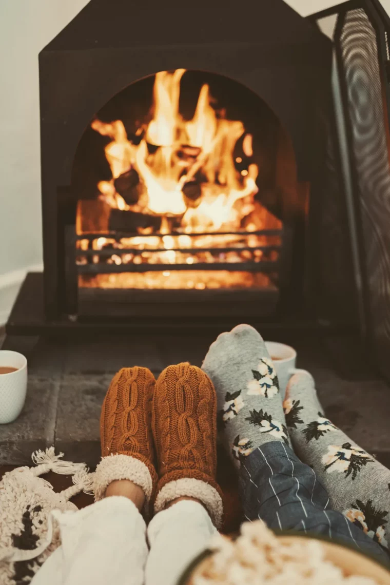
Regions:
<instances>
[{"instance_id":1,"label":"whole blazing fire, flames plus glowing embers behind the grate bars","mask_svg":"<svg viewBox=\"0 0 390 585\"><path fill-rule=\"evenodd\" d=\"M112 255L93 254L92 262L171 264L173 270L99 274L82 278L84 286L167 288L169 280L168 288L202 289L251 287L268 280L240 271L196 271L198 263L260 261L263 252L247 248L278 245L280 239L251 232L280 229L281 222L255 199L258 167L253 161L252 136L242 122L228 120L213 108L208 85L199 92L192 119L182 117L179 100L184 73L178 69L156 74L153 106L148 122L137 130L137 140L129 140L120 120L95 119L91 124L96 132L112 139L105 147L112 179L99 181L99 199L112 209L161 219L158 230L136 228L138 236L93 240L92 250L109 247ZM129 171L138 181L136 196L130 199L116 187L116 180ZM87 240L78 243L81 250L86 246ZM268 259L274 260L275 254L271 252ZM87 261L82 256L78 259L79 264ZM194 271L174 270L175 264L191 264Z\"/></svg>"}]
</instances>

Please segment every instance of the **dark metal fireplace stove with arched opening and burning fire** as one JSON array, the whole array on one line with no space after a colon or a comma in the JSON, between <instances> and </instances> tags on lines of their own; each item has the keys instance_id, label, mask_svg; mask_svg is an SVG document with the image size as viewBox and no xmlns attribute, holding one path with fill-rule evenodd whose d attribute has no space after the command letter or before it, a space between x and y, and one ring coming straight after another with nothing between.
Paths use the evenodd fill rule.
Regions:
<instances>
[{"instance_id":1,"label":"dark metal fireplace stove with arched opening and burning fire","mask_svg":"<svg viewBox=\"0 0 390 585\"><path fill-rule=\"evenodd\" d=\"M356 323L332 42L310 20L91 0L39 63L34 331Z\"/></svg>"}]
</instances>

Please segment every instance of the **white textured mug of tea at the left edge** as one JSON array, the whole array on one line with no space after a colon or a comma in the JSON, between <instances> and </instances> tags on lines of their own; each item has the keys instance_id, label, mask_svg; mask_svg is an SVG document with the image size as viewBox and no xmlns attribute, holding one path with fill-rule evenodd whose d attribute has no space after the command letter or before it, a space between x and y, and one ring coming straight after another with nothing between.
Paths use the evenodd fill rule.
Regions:
<instances>
[{"instance_id":1,"label":"white textured mug of tea at the left edge","mask_svg":"<svg viewBox=\"0 0 390 585\"><path fill-rule=\"evenodd\" d=\"M18 352L0 350L0 367L15 371L0 374L0 424L15 421L22 412L27 392L27 360Z\"/></svg>"}]
</instances>

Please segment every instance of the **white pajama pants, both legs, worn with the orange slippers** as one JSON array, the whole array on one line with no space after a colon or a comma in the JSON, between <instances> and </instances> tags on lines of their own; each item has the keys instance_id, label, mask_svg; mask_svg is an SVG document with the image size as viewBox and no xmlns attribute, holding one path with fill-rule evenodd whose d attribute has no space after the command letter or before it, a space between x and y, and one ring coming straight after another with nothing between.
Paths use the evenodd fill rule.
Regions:
<instances>
[{"instance_id":1,"label":"white pajama pants, both legs, worn with the orange slippers","mask_svg":"<svg viewBox=\"0 0 390 585\"><path fill-rule=\"evenodd\" d=\"M216 532L201 504L181 501L146 525L127 498L109 497L78 512L54 512L62 545L32 585L176 585ZM146 567L145 567L146 565Z\"/></svg>"}]
</instances>

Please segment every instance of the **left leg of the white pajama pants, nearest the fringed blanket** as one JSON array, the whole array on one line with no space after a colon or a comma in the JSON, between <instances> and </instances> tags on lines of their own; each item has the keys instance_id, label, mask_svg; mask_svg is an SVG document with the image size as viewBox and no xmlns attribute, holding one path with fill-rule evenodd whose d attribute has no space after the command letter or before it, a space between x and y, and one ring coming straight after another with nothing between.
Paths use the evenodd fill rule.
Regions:
<instances>
[{"instance_id":1,"label":"left leg of the white pajama pants, nearest the fringed blanket","mask_svg":"<svg viewBox=\"0 0 390 585\"><path fill-rule=\"evenodd\" d=\"M136 506L109 497L78 512L54 512L62 545L32 585L143 585L146 525Z\"/></svg>"}]
</instances>

